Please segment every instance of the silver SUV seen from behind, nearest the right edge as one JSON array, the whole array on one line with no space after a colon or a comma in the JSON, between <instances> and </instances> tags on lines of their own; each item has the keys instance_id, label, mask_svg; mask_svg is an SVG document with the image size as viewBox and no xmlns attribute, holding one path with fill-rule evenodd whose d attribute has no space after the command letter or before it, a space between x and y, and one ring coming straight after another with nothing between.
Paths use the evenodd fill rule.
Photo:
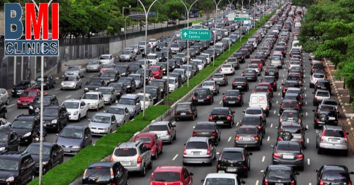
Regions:
<instances>
[{"instance_id":1,"label":"silver SUV seen from behind, nearest the right edge","mask_svg":"<svg viewBox=\"0 0 354 185\"><path fill-rule=\"evenodd\" d=\"M324 125L316 136L317 153L324 150L342 150L343 155L348 155L348 139L342 126Z\"/></svg>"}]
</instances>

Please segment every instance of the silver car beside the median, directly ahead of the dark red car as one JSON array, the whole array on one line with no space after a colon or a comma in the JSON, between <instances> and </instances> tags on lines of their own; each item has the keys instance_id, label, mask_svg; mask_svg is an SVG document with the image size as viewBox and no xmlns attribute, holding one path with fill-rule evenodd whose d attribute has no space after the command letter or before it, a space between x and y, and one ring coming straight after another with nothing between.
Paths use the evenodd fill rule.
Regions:
<instances>
[{"instance_id":1,"label":"silver car beside the median, directly ahead of the dark red car","mask_svg":"<svg viewBox=\"0 0 354 185\"><path fill-rule=\"evenodd\" d=\"M163 142L169 142L176 139L176 125L169 121L157 121L151 123L148 132L156 133Z\"/></svg>"}]
</instances>

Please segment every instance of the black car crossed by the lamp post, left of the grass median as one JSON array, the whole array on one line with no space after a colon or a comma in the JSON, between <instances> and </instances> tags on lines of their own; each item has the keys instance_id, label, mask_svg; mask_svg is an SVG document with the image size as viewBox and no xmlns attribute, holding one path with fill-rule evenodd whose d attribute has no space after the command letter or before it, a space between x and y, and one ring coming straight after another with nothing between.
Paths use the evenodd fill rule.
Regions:
<instances>
[{"instance_id":1,"label":"black car crossed by the lamp post, left of the grass median","mask_svg":"<svg viewBox=\"0 0 354 185\"><path fill-rule=\"evenodd\" d=\"M31 143L24 151L31 155L35 162L35 171L36 173L39 173L39 143ZM58 144L43 142L42 151L43 173L46 173L56 165L63 163L64 151Z\"/></svg>"}]
</instances>

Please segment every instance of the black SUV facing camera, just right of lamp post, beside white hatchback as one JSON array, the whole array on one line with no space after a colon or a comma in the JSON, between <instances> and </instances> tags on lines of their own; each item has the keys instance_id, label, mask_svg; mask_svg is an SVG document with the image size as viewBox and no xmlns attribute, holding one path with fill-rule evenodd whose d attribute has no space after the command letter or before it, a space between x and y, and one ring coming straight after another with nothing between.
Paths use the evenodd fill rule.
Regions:
<instances>
[{"instance_id":1,"label":"black SUV facing camera, just right of lamp post, beside white hatchback","mask_svg":"<svg viewBox=\"0 0 354 185\"><path fill-rule=\"evenodd\" d=\"M64 105L47 106L43 108L43 126L59 133L69 122L69 113Z\"/></svg>"}]
</instances>

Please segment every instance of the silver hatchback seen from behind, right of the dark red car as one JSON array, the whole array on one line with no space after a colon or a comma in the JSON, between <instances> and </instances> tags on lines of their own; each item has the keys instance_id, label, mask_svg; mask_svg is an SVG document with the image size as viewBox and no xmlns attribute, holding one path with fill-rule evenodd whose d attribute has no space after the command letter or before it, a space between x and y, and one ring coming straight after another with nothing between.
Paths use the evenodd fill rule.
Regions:
<instances>
[{"instance_id":1,"label":"silver hatchback seen from behind, right of the dark red car","mask_svg":"<svg viewBox=\"0 0 354 185\"><path fill-rule=\"evenodd\" d=\"M216 157L216 147L208 137L190 137L184 144L183 165L208 164Z\"/></svg>"}]
</instances>

